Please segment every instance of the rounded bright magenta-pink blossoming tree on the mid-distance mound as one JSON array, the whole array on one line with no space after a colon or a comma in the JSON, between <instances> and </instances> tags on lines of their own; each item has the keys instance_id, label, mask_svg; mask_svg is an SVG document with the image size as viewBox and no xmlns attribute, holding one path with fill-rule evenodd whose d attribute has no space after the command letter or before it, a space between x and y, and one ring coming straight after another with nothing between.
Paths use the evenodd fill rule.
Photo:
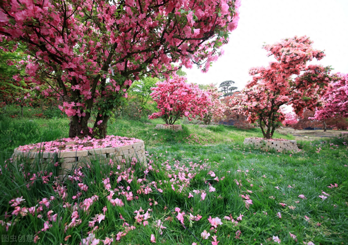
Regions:
<instances>
[{"instance_id":1,"label":"rounded bright magenta-pink blossoming tree on the mid-distance mound","mask_svg":"<svg viewBox=\"0 0 348 245\"><path fill-rule=\"evenodd\" d=\"M204 117L207 105L212 104L210 95L199 89L197 85L186 83L185 77L174 75L172 79L156 83L157 87L151 88L150 95L157 102L159 112L149 116L149 119L163 118L166 124L174 124L183 116Z\"/></svg>"}]
</instances>

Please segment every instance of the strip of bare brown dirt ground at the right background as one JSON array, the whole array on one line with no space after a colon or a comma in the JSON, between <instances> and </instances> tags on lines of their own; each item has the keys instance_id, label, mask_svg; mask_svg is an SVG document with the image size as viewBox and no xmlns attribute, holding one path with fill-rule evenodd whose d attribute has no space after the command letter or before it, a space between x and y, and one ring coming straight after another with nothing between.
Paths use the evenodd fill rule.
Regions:
<instances>
[{"instance_id":1,"label":"strip of bare brown dirt ground at the right background","mask_svg":"<svg viewBox=\"0 0 348 245\"><path fill-rule=\"evenodd\" d=\"M296 141L314 141L314 140L323 140L324 138L328 138L325 136L330 137L339 137L342 132L347 132L347 130L326 130L324 132L323 129L321 130L303 130L303 129L293 129L293 128L279 128L276 129L276 132L283 135L294 135ZM297 135L297 136L295 136ZM298 136L301 135L301 136Z\"/></svg>"}]
</instances>

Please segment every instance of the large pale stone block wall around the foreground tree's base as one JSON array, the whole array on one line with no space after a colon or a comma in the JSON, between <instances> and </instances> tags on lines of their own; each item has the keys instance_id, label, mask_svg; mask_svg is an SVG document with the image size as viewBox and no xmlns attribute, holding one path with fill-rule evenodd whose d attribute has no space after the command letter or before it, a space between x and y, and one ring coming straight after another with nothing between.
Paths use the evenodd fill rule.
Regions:
<instances>
[{"instance_id":1,"label":"large pale stone block wall around the foreground tree's base","mask_svg":"<svg viewBox=\"0 0 348 245\"><path fill-rule=\"evenodd\" d=\"M65 139L66 140L66 139ZM97 161L100 164L109 164L110 159L117 165L125 166L130 162L146 163L144 141L135 139L137 142L116 147L106 146L101 148L92 148L88 150L68 151L71 145L75 145L76 141L63 142L65 151L47 152L39 151L39 149L21 150L25 146L19 146L14 150L12 155L13 162L17 159L24 159L28 163L34 161L47 162L54 164L58 162L60 167L58 175L64 178L71 170L77 167L86 167L87 164ZM48 142L45 142L48 143ZM63 145L62 145L63 146ZM73 148L73 147L71 147Z\"/></svg>"}]
</instances>

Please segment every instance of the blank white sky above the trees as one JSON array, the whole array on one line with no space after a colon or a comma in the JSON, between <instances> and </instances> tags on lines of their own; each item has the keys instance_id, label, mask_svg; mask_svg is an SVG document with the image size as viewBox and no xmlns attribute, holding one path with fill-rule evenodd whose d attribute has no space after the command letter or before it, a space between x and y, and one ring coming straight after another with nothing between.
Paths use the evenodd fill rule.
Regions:
<instances>
[{"instance_id":1,"label":"blank white sky above the trees","mask_svg":"<svg viewBox=\"0 0 348 245\"><path fill-rule=\"evenodd\" d=\"M267 66L271 57L262 49L287 37L307 35L313 47L325 50L316 63L348 73L348 0L241 0L238 27L223 46L224 54L207 73L196 67L183 70L189 83L232 80L242 90L251 67Z\"/></svg>"}]
</instances>

